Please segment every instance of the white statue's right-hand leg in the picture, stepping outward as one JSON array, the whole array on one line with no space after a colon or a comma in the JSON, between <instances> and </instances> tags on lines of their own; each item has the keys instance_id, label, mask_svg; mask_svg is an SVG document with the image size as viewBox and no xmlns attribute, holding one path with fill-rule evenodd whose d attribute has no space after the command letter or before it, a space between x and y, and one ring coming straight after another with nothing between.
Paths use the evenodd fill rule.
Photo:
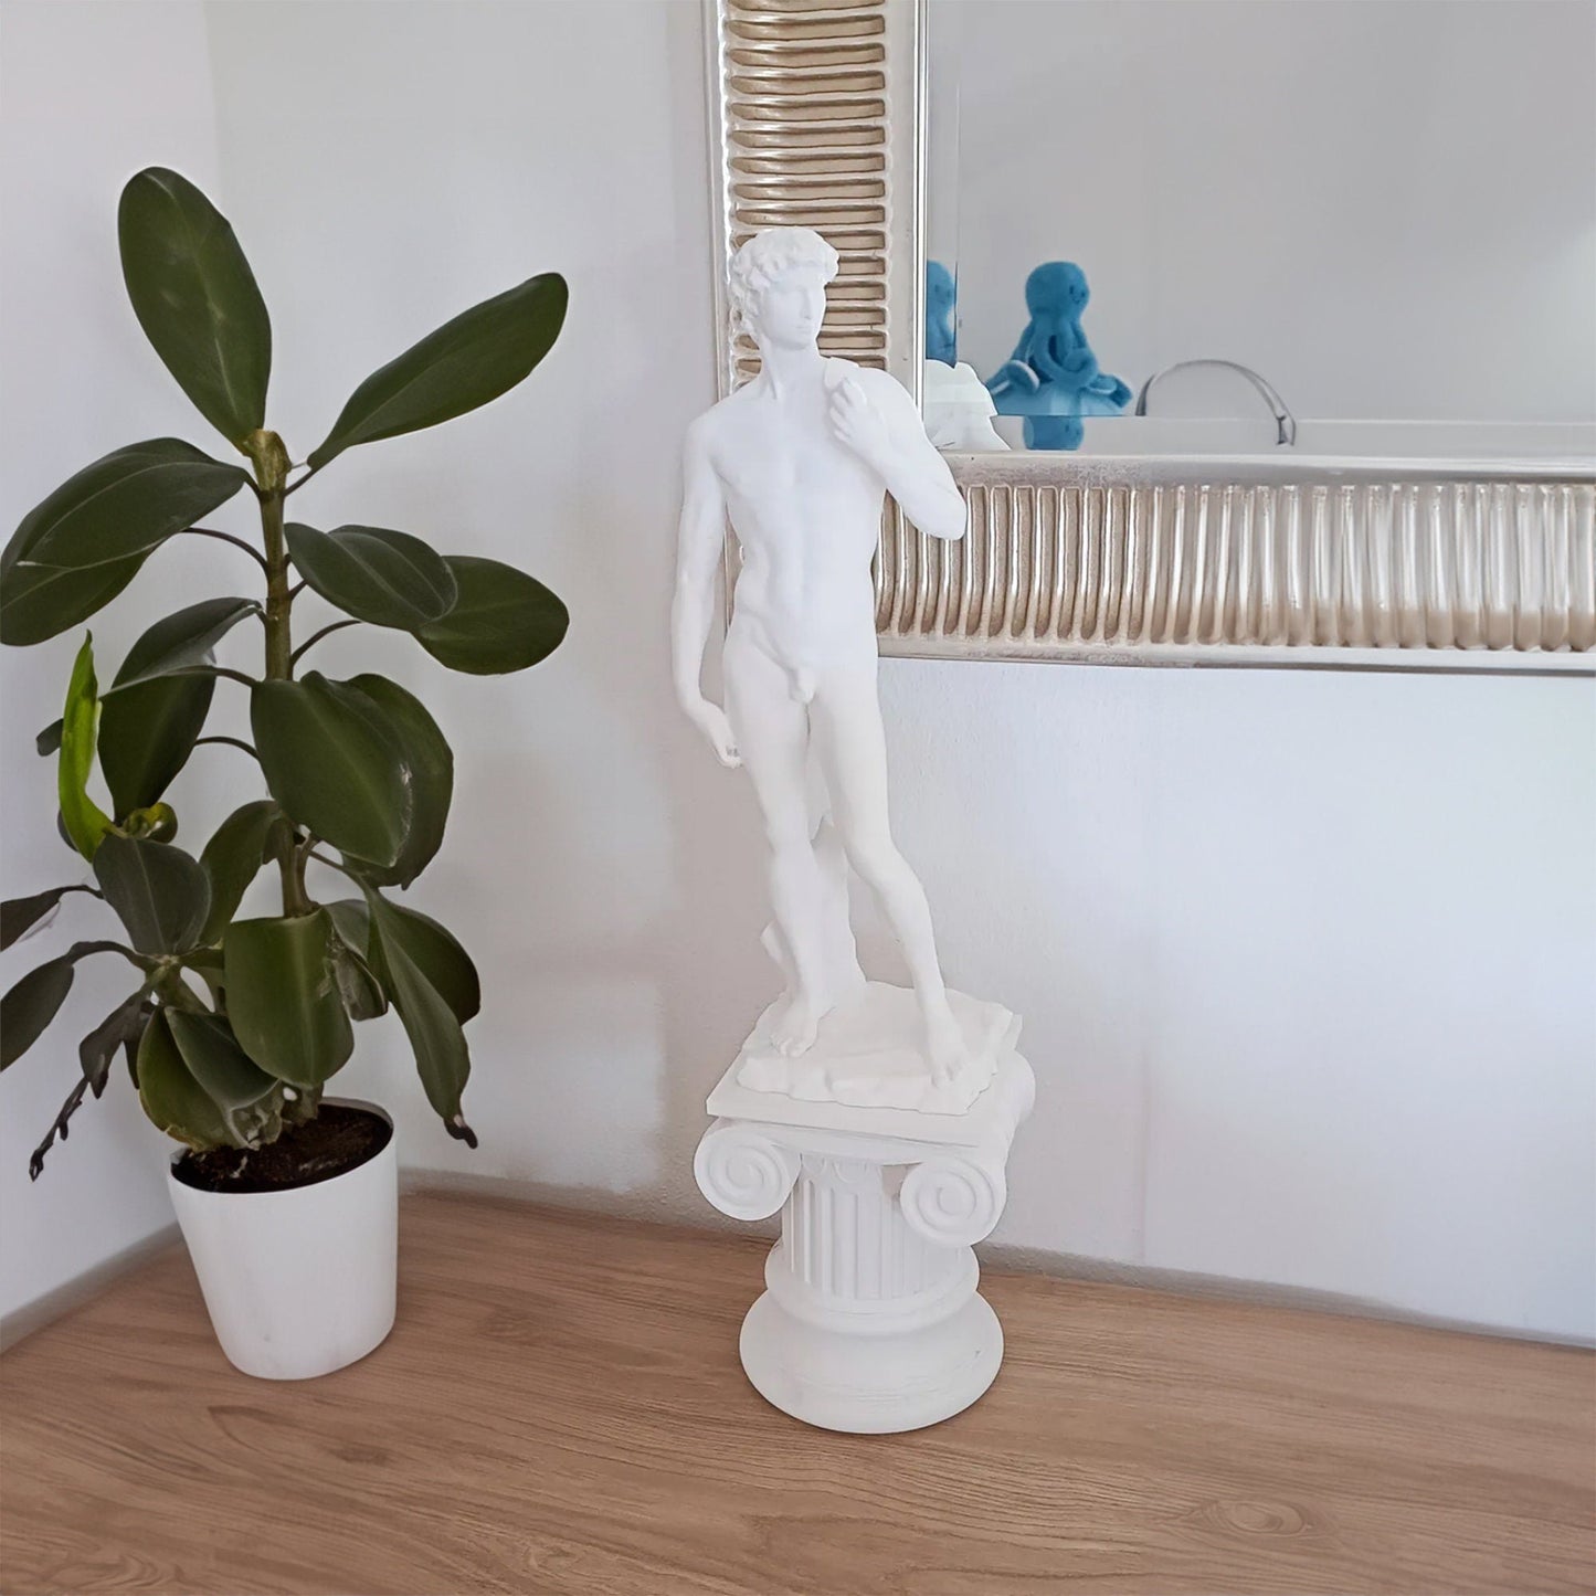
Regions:
<instances>
[{"instance_id":1,"label":"white statue's right-hand leg in the picture, stepping outward","mask_svg":"<svg viewBox=\"0 0 1596 1596\"><path fill-rule=\"evenodd\" d=\"M887 750L876 697L876 661L832 670L811 705L816 753L832 793L832 820L847 862L876 894L903 946L924 1020L926 1057L945 1079L964 1057L964 1037L948 1005L919 878L892 841L887 814Z\"/></svg>"}]
</instances>

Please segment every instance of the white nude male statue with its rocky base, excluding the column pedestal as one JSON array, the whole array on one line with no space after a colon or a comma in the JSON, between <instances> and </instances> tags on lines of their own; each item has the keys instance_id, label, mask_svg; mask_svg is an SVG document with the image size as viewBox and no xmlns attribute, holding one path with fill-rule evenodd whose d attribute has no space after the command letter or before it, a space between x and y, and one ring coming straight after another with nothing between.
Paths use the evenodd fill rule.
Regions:
<instances>
[{"instance_id":1,"label":"white nude male statue with its rocky base, excluding the column pedestal","mask_svg":"<svg viewBox=\"0 0 1596 1596\"><path fill-rule=\"evenodd\" d=\"M785 991L744 1085L816 1101L962 1112L991 1080L1007 1010L950 994L915 871L892 841L876 696L871 557L883 495L937 538L966 506L908 393L817 346L836 252L808 228L752 238L731 268L761 370L686 440L672 653L677 694L723 764L745 764L771 846L764 945ZM742 547L723 675L701 686L726 516ZM847 870L870 886L913 980L867 983Z\"/></svg>"}]
</instances>

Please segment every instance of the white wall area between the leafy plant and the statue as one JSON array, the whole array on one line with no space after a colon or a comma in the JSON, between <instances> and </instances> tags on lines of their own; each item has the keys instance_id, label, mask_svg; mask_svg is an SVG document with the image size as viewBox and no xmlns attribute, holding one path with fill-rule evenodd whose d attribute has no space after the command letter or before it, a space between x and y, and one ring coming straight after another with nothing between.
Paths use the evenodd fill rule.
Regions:
<instances>
[{"instance_id":1,"label":"white wall area between the leafy plant and the statue","mask_svg":"<svg viewBox=\"0 0 1596 1596\"><path fill-rule=\"evenodd\" d=\"M455 742L450 836L413 897L482 967L480 1151L444 1135L389 1020L346 1079L401 1103L415 1165L704 1219L702 1098L764 956L737 875L755 817L685 736L667 667L681 429L713 397L697 6L217 5L209 22L295 452L439 321L535 271L571 282L559 345L512 397L354 450L295 500L318 525L519 562L571 610L523 677L456 677L394 635L318 650L335 674L393 670Z\"/></svg>"}]
</instances>

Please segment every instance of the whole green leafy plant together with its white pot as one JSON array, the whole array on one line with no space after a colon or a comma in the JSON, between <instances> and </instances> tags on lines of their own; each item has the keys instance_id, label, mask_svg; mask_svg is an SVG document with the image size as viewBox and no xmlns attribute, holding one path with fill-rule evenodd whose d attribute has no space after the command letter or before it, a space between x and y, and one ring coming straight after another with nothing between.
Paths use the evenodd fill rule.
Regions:
<instances>
[{"instance_id":1,"label":"whole green leafy plant together with its white pot","mask_svg":"<svg viewBox=\"0 0 1596 1596\"><path fill-rule=\"evenodd\" d=\"M249 1374L302 1379L364 1357L394 1317L393 1125L370 1104L324 1095L351 1055L351 1021L393 1007L429 1103L476 1146L461 1092L463 1026L479 1007L477 972L455 937L393 897L444 838L448 742L386 677L330 680L302 662L329 632L365 622L409 632L452 670L523 670L559 645L567 613L514 567L442 555L380 527L322 531L287 520L286 506L345 450L514 388L554 345L567 289L544 273L439 327L361 383L295 466L265 425L271 324L233 228L187 179L150 168L123 190L118 233L139 324L247 469L174 437L86 466L0 555L0 642L26 646L78 626L177 535L239 544L259 583L156 621L104 691L85 638L38 749L56 758L59 830L93 881L6 902L0 946L43 929L69 892L104 899L124 935L73 943L5 994L0 1068L56 1017L80 959L126 961L131 990L83 1039L81 1077L30 1173L123 1053L145 1112L184 1144L169 1184L223 1352ZM243 492L260 509L259 546L201 525ZM342 616L295 643L306 589ZM215 662L241 622L262 629L257 675ZM204 734L222 678L249 696L249 742ZM168 792L214 742L247 752L252 792L195 855L174 839ZM89 792L96 764L109 808ZM332 902L313 895L311 860L342 878ZM238 918L267 865L281 913Z\"/></svg>"}]
</instances>

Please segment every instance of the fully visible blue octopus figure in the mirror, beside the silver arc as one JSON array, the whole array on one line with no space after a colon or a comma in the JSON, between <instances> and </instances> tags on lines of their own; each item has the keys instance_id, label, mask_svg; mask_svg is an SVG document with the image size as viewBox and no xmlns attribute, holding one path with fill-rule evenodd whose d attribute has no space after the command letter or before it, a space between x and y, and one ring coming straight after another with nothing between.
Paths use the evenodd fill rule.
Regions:
<instances>
[{"instance_id":1,"label":"fully visible blue octopus figure in the mirror, beside the silver arc","mask_svg":"<svg viewBox=\"0 0 1596 1596\"><path fill-rule=\"evenodd\" d=\"M1049 260L1025 279L1031 321L986 391L999 415L1025 417L1029 448L1079 448L1082 417L1116 415L1130 402L1130 388L1100 370L1080 330L1088 298L1087 276L1069 260Z\"/></svg>"}]
</instances>

